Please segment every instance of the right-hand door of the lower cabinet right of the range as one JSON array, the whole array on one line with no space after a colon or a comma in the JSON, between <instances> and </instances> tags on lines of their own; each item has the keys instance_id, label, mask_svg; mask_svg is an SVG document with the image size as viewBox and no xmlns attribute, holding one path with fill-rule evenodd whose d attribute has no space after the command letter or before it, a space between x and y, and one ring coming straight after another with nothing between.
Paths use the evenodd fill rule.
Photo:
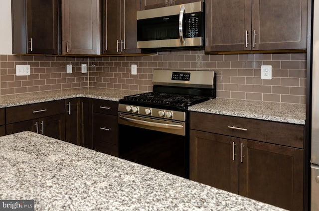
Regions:
<instances>
[{"instance_id":1,"label":"right-hand door of the lower cabinet right of the range","mask_svg":"<svg viewBox=\"0 0 319 211\"><path fill-rule=\"evenodd\" d=\"M239 194L287 210L303 210L303 150L240 139ZM240 159L241 160L241 159Z\"/></svg>"}]
</instances>

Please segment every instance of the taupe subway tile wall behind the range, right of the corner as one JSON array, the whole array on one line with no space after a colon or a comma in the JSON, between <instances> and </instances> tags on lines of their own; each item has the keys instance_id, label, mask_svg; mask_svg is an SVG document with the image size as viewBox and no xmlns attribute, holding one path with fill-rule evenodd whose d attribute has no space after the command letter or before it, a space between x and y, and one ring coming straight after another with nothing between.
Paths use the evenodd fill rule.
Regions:
<instances>
[{"instance_id":1,"label":"taupe subway tile wall behind the range, right of the corner","mask_svg":"<svg viewBox=\"0 0 319 211\"><path fill-rule=\"evenodd\" d=\"M205 55L203 51L162 52L156 56L100 57L90 86L152 91L154 69L217 73L217 97L306 104L306 53ZM138 75L131 75L137 64ZM261 80L261 65L272 79Z\"/></svg>"}]
</instances>

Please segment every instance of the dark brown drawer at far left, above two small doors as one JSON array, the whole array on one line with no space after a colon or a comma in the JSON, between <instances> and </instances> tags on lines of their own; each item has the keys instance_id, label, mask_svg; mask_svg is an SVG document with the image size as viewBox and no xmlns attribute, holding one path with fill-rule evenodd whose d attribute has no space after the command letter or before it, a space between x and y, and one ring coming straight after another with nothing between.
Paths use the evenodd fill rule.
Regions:
<instances>
[{"instance_id":1,"label":"dark brown drawer at far left, above two small doors","mask_svg":"<svg viewBox=\"0 0 319 211\"><path fill-rule=\"evenodd\" d=\"M25 121L64 113L64 100L6 108L6 123Z\"/></svg>"}]
</instances>

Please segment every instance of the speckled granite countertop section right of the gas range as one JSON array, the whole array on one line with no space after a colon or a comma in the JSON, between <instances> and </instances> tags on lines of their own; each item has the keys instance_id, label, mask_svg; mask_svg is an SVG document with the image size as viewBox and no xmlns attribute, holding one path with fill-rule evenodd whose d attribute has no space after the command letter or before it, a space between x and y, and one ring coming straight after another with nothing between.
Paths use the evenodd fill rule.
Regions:
<instances>
[{"instance_id":1,"label":"speckled granite countertop section right of the gas range","mask_svg":"<svg viewBox=\"0 0 319 211\"><path fill-rule=\"evenodd\" d=\"M305 124L306 105L216 98L188 107L190 111Z\"/></svg>"}]
</instances>

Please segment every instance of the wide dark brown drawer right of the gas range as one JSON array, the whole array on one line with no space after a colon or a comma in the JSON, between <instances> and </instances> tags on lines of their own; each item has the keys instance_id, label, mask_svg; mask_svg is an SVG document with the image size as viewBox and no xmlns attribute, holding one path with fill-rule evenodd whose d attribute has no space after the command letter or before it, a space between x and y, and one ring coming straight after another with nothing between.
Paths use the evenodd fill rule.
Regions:
<instances>
[{"instance_id":1,"label":"wide dark brown drawer right of the gas range","mask_svg":"<svg viewBox=\"0 0 319 211\"><path fill-rule=\"evenodd\" d=\"M304 148L303 125L190 112L190 129Z\"/></svg>"}]
</instances>

